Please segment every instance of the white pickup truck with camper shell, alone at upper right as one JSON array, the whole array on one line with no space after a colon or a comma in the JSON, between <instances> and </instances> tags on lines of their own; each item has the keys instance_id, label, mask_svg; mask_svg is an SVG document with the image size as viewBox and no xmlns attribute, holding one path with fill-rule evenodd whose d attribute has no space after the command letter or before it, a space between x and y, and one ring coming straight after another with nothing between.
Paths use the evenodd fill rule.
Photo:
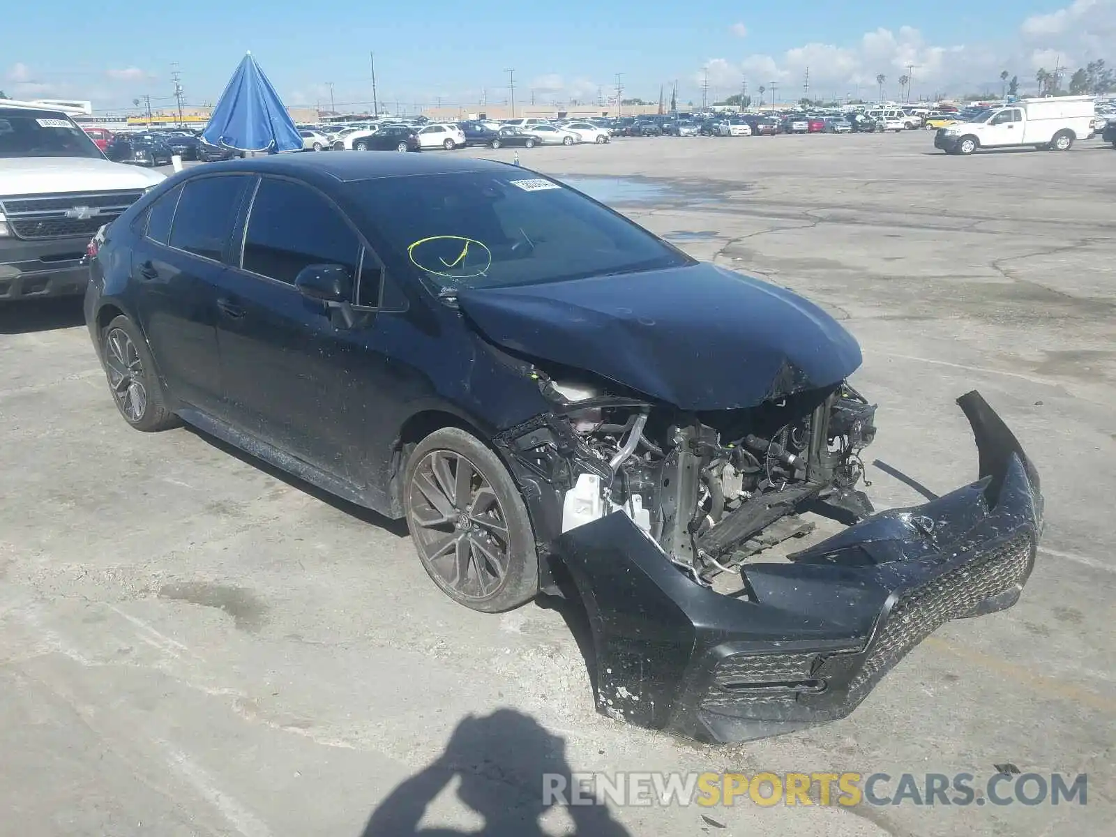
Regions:
<instances>
[{"instance_id":1,"label":"white pickup truck with camper shell, alone at upper right","mask_svg":"<svg viewBox=\"0 0 1116 837\"><path fill-rule=\"evenodd\" d=\"M982 110L968 122L940 128L934 147L947 154L972 154L978 148L1033 145L1068 151L1075 140L1093 135L1093 96L1048 96L1020 99Z\"/></svg>"}]
</instances>

